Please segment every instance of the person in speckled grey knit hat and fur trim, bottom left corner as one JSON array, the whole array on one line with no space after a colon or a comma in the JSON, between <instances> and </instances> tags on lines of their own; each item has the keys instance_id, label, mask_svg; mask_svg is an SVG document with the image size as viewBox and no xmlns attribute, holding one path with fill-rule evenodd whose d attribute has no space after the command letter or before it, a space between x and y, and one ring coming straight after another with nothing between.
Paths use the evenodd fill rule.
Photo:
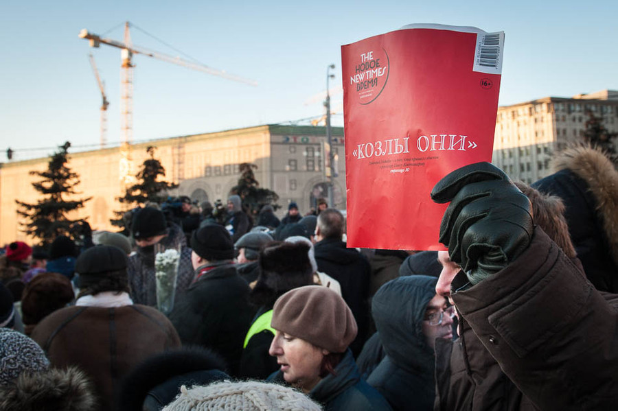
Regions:
<instances>
[{"instance_id":1,"label":"person in speckled grey knit hat and fur trim, bottom left corner","mask_svg":"<svg viewBox=\"0 0 618 411\"><path fill-rule=\"evenodd\" d=\"M52 368L22 333L0 328L0 410L91 411L93 385L78 368Z\"/></svg>"}]
</instances>

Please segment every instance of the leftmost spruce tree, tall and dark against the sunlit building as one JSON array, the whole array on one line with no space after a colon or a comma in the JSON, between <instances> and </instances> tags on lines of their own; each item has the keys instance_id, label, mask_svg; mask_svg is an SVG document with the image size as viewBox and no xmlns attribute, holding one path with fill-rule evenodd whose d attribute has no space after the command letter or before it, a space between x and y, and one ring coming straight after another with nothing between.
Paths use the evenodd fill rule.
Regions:
<instances>
[{"instance_id":1,"label":"leftmost spruce tree, tall and dark against the sunlit building","mask_svg":"<svg viewBox=\"0 0 618 411\"><path fill-rule=\"evenodd\" d=\"M40 246L52 244L58 235L76 237L74 231L80 229L83 220L69 220L67 214L84 207L84 202L91 199L69 200L77 194L75 187L80 183L78 174L67 166L68 152L71 143L67 141L58 152L50 158L47 170L30 172L41 180L32 183L32 187L43 195L35 204L15 200L19 205L17 213L25 218L21 223L22 231L38 239Z\"/></svg>"}]
</instances>

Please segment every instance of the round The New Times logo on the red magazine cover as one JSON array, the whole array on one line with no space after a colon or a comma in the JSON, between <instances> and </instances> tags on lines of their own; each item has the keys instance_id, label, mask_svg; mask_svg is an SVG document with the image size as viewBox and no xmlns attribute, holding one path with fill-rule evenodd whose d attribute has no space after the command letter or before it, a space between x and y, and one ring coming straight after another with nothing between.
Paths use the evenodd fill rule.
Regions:
<instances>
[{"instance_id":1,"label":"round The New Times logo on the red magazine cover","mask_svg":"<svg viewBox=\"0 0 618 411\"><path fill-rule=\"evenodd\" d=\"M389 55L385 49L361 54L350 75L352 93L356 92L358 104L370 104L384 90L389 80Z\"/></svg>"}]
</instances>

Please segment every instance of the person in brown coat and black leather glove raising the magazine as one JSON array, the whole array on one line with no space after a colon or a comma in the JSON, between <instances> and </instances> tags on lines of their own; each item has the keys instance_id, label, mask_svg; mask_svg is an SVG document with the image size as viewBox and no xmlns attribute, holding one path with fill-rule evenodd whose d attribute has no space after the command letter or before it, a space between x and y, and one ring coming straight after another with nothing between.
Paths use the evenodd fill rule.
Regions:
<instances>
[{"instance_id":1,"label":"person in brown coat and black leather glove raising the magazine","mask_svg":"<svg viewBox=\"0 0 618 411\"><path fill-rule=\"evenodd\" d=\"M460 326L469 325L529 408L613 409L618 403L615 295L600 293L586 280L535 224L527 196L494 165L456 169L433 187L431 197L450 202L439 237L448 252L438 253L443 269L436 291L453 299ZM479 373L495 371L479 366ZM437 381L440 395L444 382ZM466 400L472 397L479 409L496 401L503 403L496 408L512 409L512 393L505 395L500 384L481 388L461 393L467 398L456 392L454 399L439 400L469 408ZM518 406L525 408L524 399Z\"/></svg>"}]
</instances>

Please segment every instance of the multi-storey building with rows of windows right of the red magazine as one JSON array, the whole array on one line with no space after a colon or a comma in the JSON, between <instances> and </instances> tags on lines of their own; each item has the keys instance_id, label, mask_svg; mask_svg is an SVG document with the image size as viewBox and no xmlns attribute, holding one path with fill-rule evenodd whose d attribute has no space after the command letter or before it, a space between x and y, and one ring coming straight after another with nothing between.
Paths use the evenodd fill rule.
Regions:
<instances>
[{"instance_id":1,"label":"multi-storey building with rows of windows right of the red magazine","mask_svg":"<svg viewBox=\"0 0 618 411\"><path fill-rule=\"evenodd\" d=\"M609 132L618 132L618 91L499 107L492 163L525 183L548 176L552 154L583 140L588 112L602 118Z\"/></svg>"}]
</instances>

